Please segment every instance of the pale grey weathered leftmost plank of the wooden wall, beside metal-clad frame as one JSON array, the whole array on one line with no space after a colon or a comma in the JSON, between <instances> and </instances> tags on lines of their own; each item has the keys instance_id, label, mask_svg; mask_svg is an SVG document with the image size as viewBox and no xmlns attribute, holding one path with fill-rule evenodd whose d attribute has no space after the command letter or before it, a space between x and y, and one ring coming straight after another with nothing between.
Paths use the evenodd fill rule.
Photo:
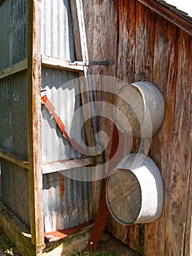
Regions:
<instances>
[{"instance_id":1,"label":"pale grey weathered leftmost plank of the wooden wall, beside metal-clad frame","mask_svg":"<svg viewBox=\"0 0 192 256\"><path fill-rule=\"evenodd\" d=\"M93 61L114 60L115 65L112 66L91 66L88 68L88 75L110 75L116 76L117 64L117 4L116 1L82 1L83 10L85 14L85 31L87 34L88 56ZM101 82L101 77L91 78L91 89L95 90L93 99L96 102L110 102L112 103L112 95L104 93L109 84ZM115 88L114 88L115 90ZM114 98L114 97L113 97ZM100 113L101 104L96 105L96 113ZM105 116L110 117L110 111L103 105ZM110 139L112 139L112 125L107 118L95 118L96 132L104 131ZM110 144L109 143L109 144ZM110 149L110 148L109 148ZM110 150L106 151L105 160L110 156ZM93 219L99 209L99 202L102 192L102 181L93 181L92 195L93 195Z\"/></svg>"}]
</instances>

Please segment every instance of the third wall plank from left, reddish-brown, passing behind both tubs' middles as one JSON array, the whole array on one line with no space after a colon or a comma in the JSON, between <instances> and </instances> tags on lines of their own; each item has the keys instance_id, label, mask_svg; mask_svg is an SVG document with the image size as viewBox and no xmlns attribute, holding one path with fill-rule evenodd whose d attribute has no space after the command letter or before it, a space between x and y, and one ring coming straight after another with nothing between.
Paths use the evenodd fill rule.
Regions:
<instances>
[{"instance_id":1,"label":"third wall plank from left, reddish-brown, passing behind both tubs' middles","mask_svg":"<svg viewBox=\"0 0 192 256\"><path fill-rule=\"evenodd\" d=\"M136 1L135 21L131 23L135 29L134 81L153 80L153 53L155 45L155 14ZM132 151L138 151L140 141L134 138ZM131 225L128 229L128 244L132 249L143 254L145 245L145 225Z\"/></svg>"}]
</instances>

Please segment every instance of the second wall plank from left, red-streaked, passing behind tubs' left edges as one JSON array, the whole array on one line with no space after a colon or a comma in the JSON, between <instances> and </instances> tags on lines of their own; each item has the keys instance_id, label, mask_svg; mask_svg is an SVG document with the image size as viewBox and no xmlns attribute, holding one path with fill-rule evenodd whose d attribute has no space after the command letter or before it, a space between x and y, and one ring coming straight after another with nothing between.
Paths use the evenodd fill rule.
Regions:
<instances>
[{"instance_id":1,"label":"second wall plank from left, red-streaked, passing behind tubs' left edges","mask_svg":"<svg viewBox=\"0 0 192 256\"><path fill-rule=\"evenodd\" d=\"M115 44L117 47L116 76L126 83L133 83L135 77L136 13L136 1L118 1L118 35ZM117 89L120 89L120 86ZM130 147L127 136L125 136L124 143L125 145L122 146ZM126 143L128 144L126 145ZM120 225L110 217L107 229L124 244L128 244L128 228L125 225ZM138 240L134 239L133 243L136 241ZM139 242L137 247L139 247Z\"/></svg>"}]
</instances>

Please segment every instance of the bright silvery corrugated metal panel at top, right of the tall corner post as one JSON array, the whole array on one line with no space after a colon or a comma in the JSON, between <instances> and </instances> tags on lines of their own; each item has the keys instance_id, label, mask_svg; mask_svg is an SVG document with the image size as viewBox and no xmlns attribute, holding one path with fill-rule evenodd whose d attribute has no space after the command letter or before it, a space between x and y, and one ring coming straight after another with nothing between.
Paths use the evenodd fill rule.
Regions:
<instances>
[{"instance_id":1,"label":"bright silvery corrugated metal panel at top, right of the tall corner post","mask_svg":"<svg viewBox=\"0 0 192 256\"><path fill-rule=\"evenodd\" d=\"M75 60L69 0L42 1L42 55Z\"/></svg>"}]
</instances>

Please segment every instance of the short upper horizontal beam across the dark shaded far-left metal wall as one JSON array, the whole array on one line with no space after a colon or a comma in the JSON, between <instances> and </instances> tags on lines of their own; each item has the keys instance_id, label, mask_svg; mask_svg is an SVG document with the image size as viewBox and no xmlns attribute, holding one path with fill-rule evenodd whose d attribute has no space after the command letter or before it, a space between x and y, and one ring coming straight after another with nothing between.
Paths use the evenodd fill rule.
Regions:
<instances>
[{"instance_id":1,"label":"short upper horizontal beam across the dark shaded far-left metal wall","mask_svg":"<svg viewBox=\"0 0 192 256\"><path fill-rule=\"evenodd\" d=\"M0 80L7 78L10 75L15 75L15 73L21 72L27 69L27 59L12 65L12 67L7 67L7 69L0 70Z\"/></svg>"}]
</instances>

